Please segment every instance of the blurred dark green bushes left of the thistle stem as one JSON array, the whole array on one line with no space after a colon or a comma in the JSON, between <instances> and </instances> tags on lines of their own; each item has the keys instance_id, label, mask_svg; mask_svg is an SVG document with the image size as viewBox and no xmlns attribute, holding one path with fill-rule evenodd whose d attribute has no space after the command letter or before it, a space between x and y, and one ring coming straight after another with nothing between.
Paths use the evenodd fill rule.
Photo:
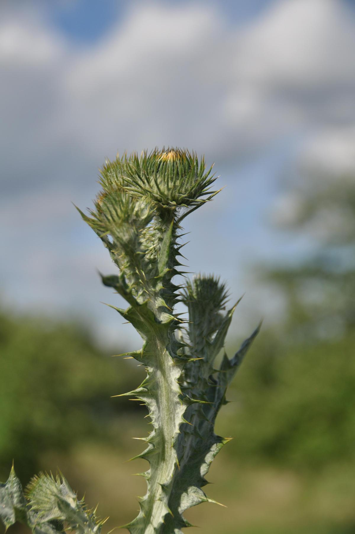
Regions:
<instances>
[{"instance_id":1,"label":"blurred dark green bushes left of the thistle stem","mask_svg":"<svg viewBox=\"0 0 355 534\"><path fill-rule=\"evenodd\" d=\"M0 480L12 459L26 482L48 450L65 451L83 439L107 443L118 410L135 409L110 399L129 387L131 366L105 357L78 324L3 311L0 351Z\"/></svg>"}]
</instances>

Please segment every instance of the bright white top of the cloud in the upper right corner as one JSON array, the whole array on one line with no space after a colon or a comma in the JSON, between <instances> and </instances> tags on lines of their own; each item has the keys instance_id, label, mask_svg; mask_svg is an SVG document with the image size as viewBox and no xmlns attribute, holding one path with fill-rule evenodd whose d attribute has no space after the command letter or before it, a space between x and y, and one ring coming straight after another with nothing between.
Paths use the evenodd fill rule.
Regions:
<instances>
[{"instance_id":1,"label":"bright white top of the cloud in the upper right corner","mask_svg":"<svg viewBox=\"0 0 355 534\"><path fill-rule=\"evenodd\" d=\"M355 81L354 21L339 0L278 0L237 38L237 76L264 90Z\"/></svg>"}]
</instances>

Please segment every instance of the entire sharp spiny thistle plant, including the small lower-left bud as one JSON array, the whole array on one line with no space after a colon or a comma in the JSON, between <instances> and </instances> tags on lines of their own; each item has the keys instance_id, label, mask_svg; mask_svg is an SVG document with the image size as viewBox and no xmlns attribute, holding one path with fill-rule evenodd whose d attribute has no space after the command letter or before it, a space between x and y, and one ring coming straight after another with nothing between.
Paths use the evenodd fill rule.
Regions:
<instances>
[{"instance_id":1,"label":"entire sharp spiny thistle plant, including the small lower-left bud","mask_svg":"<svg viewBox=\"0 0 355 534\"><path fill-rule=\"evenodd\" d=\"M121 395L146 405L152 430L142 437L145 448L136 458L149 462L140 512L125 528L131 534L178 534L190 524L184 511L214 502L203 486L211 462L230 438L214 433L215 418L227 403L226 390L258 328L235 356L223 350L235 306L226 311L227 291L214 276L198 275L184 285L173 279L182 257L181 223L210 201L216 177L204 158L180 148L132 154L106 162L102 191L85 222L109 250L118 274L102 276L127 302L114 308L143 339L128 352L145 367L146 378ZM174 311L182 302L188 318ZM120 395L118 395L120 396ZM103 521L88 510L63 476L34 477L25 493L12 469L0 485L0 518L9 527L25 523L37 534L63 530L101 532Z\"/></svg>"}]
</instances>

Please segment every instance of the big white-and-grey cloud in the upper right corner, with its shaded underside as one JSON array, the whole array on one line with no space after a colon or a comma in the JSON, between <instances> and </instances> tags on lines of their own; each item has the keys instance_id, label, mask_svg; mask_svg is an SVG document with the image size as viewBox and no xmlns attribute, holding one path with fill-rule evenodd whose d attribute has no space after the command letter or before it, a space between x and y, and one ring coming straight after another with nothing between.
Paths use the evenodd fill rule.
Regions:
<instances>
[{"instance_id":1,"label":"big white-and-grey cloud in the upper right corner, with its shaded underside","mask_svg":"<svg viewBox=\"0 0 355 534\"><path fill-rule=\"evenodd\" d=\"M232 36L224 110L234 131L255 147L355 121L354 30L338 0L279 0Z\"/></svg>"}]
</instances>

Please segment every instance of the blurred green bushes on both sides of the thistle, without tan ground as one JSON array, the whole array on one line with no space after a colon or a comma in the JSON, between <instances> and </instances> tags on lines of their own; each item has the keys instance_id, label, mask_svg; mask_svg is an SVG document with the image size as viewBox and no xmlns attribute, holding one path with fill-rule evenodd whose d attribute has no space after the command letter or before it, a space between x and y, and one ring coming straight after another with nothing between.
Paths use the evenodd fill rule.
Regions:
<instances>
[{"instance_id":1,"label":"blurred green bushes on both sides of the thistle, without tan ground","mask_svg":"<svg viewBox=\"0 0 355 534\"><path fill-rule=\"evenodd\" d=\"M288 345L262 332L231 388L236 402L221 415L236 437L226 454L298 469L339 459L355 466L354 345L354 333ZM134 386L135 367L105 356L78 325L6 313L0 348L3 477L12 458L27 479L48 450L82 440L119 444L115 421L137 406L110 396Z\"/></svg>"}]
</instances>

